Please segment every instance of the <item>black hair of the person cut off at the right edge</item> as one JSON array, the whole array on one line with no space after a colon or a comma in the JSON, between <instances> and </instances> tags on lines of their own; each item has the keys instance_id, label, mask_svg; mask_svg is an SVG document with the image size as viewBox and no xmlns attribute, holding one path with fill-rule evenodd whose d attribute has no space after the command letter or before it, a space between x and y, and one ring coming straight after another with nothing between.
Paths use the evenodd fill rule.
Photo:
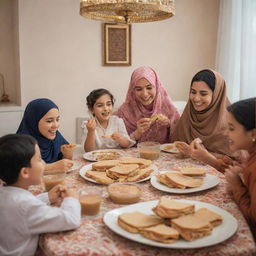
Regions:
<instances>
[{"instance_id":1,"label":"black hair of the person cut off at the right edge","mask_svg":"<svg viewBox=\"0 0 256 256\"><path fill-rule=\"evenodd\" d=\"M237 122L245 127L247 131L255 128L255 101L256 97L240 100L227 107Z\"/></svg>"}]
</instances>

